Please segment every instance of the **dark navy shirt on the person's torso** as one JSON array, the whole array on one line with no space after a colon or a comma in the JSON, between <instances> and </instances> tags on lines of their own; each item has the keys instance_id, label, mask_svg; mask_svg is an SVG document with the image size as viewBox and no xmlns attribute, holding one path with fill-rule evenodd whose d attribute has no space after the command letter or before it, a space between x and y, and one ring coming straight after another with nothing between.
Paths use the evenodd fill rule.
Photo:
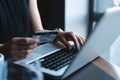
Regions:
<instances>
[{"instance_id":1,"label":"dark navy shirt on the person's torso","mask_svg":"<svg viewBox=\"0 0 120 80\"><path fill-rule=\"evenodd\" d=\"M0 43L29 32L29 0L0 0Z\"/></svg>"}]
</instances>

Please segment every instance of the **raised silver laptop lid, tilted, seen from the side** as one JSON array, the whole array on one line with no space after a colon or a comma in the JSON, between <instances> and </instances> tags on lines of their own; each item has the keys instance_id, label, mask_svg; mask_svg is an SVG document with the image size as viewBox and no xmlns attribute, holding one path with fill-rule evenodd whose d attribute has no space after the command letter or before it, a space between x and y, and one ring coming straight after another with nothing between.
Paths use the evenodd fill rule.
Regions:
<instances>
[{"instance_id":1,"label":"raised silver laptop lid, tilted, seen from the side","mask_svg":"<svg viewBox=\"0 0 120 80\"><path fill-rule=\"evenodd\" d=\"M120 35L120 7L108 9L98 22L88 41L78 52L63 78L101 56Z\"/></svg>"}]
</instances>

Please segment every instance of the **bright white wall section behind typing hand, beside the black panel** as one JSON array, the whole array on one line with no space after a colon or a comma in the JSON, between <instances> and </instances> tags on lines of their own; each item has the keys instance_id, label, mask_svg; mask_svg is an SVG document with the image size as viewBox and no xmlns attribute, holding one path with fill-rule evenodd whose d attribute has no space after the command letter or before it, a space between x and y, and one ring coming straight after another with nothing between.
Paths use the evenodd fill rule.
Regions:
<instances>
[{"instance_id":1,"label":"bright white wall section behind typing hand, beside the black panel","mask_svg":"<svg viewBox=\"0 0 120 80\"><path fill-rule=\"evenodd\" d=\"M88 0L65 0L65 30L86 37Z\"/></svg>"}]
</instances>

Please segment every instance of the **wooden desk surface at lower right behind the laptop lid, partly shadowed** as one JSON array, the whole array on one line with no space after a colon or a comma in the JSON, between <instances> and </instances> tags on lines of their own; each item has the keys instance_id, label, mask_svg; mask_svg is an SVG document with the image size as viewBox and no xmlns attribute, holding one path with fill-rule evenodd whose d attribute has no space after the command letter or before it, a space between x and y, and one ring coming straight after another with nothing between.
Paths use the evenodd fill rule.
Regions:
<instances>
[{"instance_id":1,"label":"wooden desk surface at lower right behind the laptop lid, partly shadowed","mask_svg":"<svg viewBox=\"0 0 120 80\"><path fill-rule=\"evenodd\" d=\"M120 80L120 69L99 57L65 80Z\"/></svg>"}]
</instances>

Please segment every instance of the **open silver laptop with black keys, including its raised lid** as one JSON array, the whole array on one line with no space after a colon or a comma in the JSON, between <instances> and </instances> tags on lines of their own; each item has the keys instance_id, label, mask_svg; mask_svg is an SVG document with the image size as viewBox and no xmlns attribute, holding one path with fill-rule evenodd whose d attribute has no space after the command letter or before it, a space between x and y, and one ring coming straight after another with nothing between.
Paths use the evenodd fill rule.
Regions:
<instances>
[{"instance_id":1,"label":"open silver laptop with black keys, including its raised lid","mask_svg":"<svg viewBox=\"0 0 120 80\"><path fill-rule=\"evenodd\" d=\"M35 48L33 53L28 55L27 58L16 61L15 63L24 66L24 64L34 65L36 62L41 62L40 69L43 73L55 78L65 79L110 48L120 34L119 21L120 8L110 8L104 13L96 28L79 51L76 51L74 46L71 51L68 51L62 44L47 43ZM65 54L68 55L67 57L69 59ZM61 56L62 59L60 59ZM56 60L59 61L55 63L54 61ZM60 61L64 63L61 64Z\"/></svg>"}]
</instances>

